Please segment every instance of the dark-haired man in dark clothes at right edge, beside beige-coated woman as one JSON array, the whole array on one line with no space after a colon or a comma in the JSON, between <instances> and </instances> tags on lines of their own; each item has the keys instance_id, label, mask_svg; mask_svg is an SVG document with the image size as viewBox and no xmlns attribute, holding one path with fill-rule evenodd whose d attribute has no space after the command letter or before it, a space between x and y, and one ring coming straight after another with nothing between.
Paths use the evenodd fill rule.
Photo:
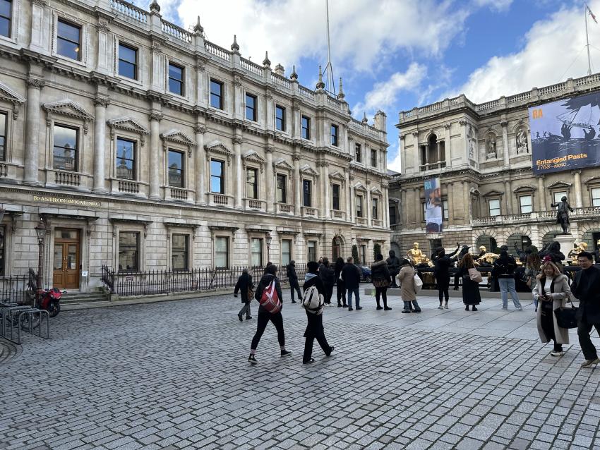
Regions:
<instances>
[{"instance_id":1,"label":"dark-haired man in dark clothes at right edge, beside beige-coated woman","mask_svg":"<svg viewBox=\"0 0 600 450\"><path fill-rule=\"evenodd\" d=\"M596 347L589 338L592 327L600 333L600 268L592 264L592 253L582 252L577 256L581 267L571 284L572 294L580 300L577 310L577 336L585 358L581 367L592 367L600 363Z\"/></svg>"}]
</instances>

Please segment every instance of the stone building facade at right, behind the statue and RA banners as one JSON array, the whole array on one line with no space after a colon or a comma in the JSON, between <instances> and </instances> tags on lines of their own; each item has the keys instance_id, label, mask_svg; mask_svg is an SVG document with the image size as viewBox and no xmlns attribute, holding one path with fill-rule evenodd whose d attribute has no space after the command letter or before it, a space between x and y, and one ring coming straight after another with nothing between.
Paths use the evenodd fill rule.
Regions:
<instances>
[{"instance_id":1,"label":"stone building facade at right, behind the statue and RA banners","mask_svg":"<svg viewBox=\"0 0 600 450\"><path fill-rule=\"evenodd\" d=\"M594 248L600 239L600 169L534 176L528 107L600 91L600 74L474 104L464 95L400 112L402 173L390 182L392 248L431 252L457 242L488 250L538 248L561 232L551 203L575 208L571 232ZM443 232L426 234L424 180L440 176ZM565 254L569 249L565 250Z\"/></svg>"}]
</instances>

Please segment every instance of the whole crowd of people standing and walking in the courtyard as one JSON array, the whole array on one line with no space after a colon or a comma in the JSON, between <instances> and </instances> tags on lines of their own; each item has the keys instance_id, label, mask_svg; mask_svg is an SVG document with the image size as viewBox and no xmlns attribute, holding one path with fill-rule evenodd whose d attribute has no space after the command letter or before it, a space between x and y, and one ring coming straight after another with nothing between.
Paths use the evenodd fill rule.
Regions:
<instances>
[{"instance_id":1,"label":"whole crowd of people standing and walking in the courtyard","mask_svg":"<svg viewBox=\"0 0 600 450\"><path fill-rule=\"evenodd\" d=\"M460 245L457 245L456 250L450 254L446 254L444 248L437 248L431 260L435 266L433 274L436 277L438 287L440 301L438 308L442 310L449 309L450 268L457 264L455 276L462 279L464 309L469 311L469 308L471 308L472 311L477 311L477 305L481 303L481 293L479 292L481 274L476 268L473 255L469 253L469 247L463 245L461 248ZM576 326L577 336L585 358L582 367L592 367L600 363L596 348L590 339L590 332L592 332L593 327L600 334L600 264L593 264L593 260L592 253L586 251L577 256L577 262L581 270L577 272L571 284L569 284L568 277L562 273L562 264L554 261L549 256L541 260L539 254L529 253L524 270L524 281L532 289L537 329L541 342L548 343L552 341L553 350L551 355L562 356L564 354L563 345L569 343L568 328ZM355 309L362 309L359 293L361 269L354 264L352 257L348 257L345 262L341 257L338 257L335 264L330 264L326 257L319 262L308 262L303 292L300 291L295 265L295 262L292 261L287 266L287 279L289 279L292 303L296 303L294 295L297 294L297 298L305 306L303 296L306 296L307 290L313 289L323 300L321 307L333 306L331 299L334 288L337 288L336 296L339 308L348 308L349 311L354 310L352 305L352 298L354 297ZM502 308L505 310L508 309L509 293L515 309L523 309L515 288L516 268L515 258L508 253L508 248L503 245L500 248L498 259L493 263L491 276L498 281ZM371 279L375 288L376 310L388 311L392 309L388 305L388 288L397 286L397 281L400 284L400 298L404 305L402 312L421 312L417 302L417 294L421 284L419 275L416 273L411 260L397 257L393 250L390 251L390 257L387 260L383 259L383 255L378 254L375 262L371 265ZM243 306L238 314L240 321L243 320L244 315L246 315L246 320L252 319L250 312L251 300L256 298L260 301L263 297L263 291L268 286L274 286L277 297L282 300L282 290L280 281L277 279L277 266L275 264L267 264L265 272L256 286L256 291L254 291L255 286L251 275L248 274L247 269L244 269L234 290L234 296L241 293ZM575 300L579 300L578 308L572 305ZM568 310L567 303L569 302L572 311L564 313L565 310ZM277 311L267 310L262 304L259 306L256 334L252 339L248 362L256 363L256 348L268 322L272 322L277 329L282 357L290 354L285 348L281 308L282 304ZM325 338L322 309L320 308L318 312L306 310L304 364L313 363L312 348L315 339L325 355L329 356L334 349ZM570 322L566 323L569 317Z\"/></svg>"}]
</instances>

